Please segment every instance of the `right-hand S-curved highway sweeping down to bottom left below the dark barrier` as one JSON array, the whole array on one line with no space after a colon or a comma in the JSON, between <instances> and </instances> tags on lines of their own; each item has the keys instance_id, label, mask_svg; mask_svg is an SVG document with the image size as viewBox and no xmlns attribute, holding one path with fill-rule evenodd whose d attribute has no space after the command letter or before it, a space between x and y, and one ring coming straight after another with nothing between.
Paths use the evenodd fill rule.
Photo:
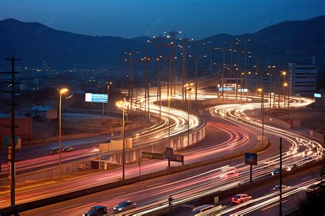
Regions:
<instances>
[{"instance_id":1,"label":"right-hand S-curved highway sweeping down to bottom left below the dark barrier","mask_svg":"<svg viewBox=\"0 0 325 216\"><path fill-rule=\"evenodd\" d=\"M305 99L299 99L299 101L296 101L296 103L297 105L304 105L305 103L309 102ZM256 103L256 107L258 107L258 105L259 103ZM256 107L254 107L254 104L243 106L219 105L211 107L208 110L210 111L211 115L218 121L224 120L228 122L227 124L231 124L231 126L228 126L228 129L232 129L233 125L241 125L245 129L256 129L257 131L259 131L259 123L248 119L248 117L244 115L244 110L254 108L256 109ZM295 163L307 163L308 161L306 162L306 157L308 155L315 156L316 159L317 157L320 157L319 153L324 151L322 146L320 146L320 144L315 141L311 141L306 137L303 137L301 135L298 136L294 133L285 133L280 129L273 128L272 126L265 126L265 135L267 135L268 137L271 137L271 135L274 135L274 137L281 135L285 138L283 150L284 167L288 167L289 165ZM234 142L234 145L236 144L236 142L237 141ZM219 148L222 148L220 146ZM228 148L231 148L230 146L228 146ZM308 155L304 154L306 149L309 149ZM276 144L275 146L272 145L271 148L266 152L258 154L258 159L259 165L254 168L253 178L269 176L278 164L277 162L274 162L276 159L278 159L278 144ZM105 194L107 196L107 199L104 199L104 196L101 196L99 195L99 193L96 193L93 195L88 195L82 198L75 199L78 200L78 204L75 204L76 201L74 202L73 200L69 200L68 202L62 202L60 204L51 205L53 206L53 208L51 208L51 206L46 206L44 208L38 208L38 210L36 209L33 211L39 211L38 213L41 213L42 211L45 211L45 209L47 209L47 215L56 215L57 213L55 212L57 211L59 211L61 215L62 213L67 213L67 215L71 215L72 212L69 210L69 206L71 205L75 206L75 208L73 208L74 213L76 209L78 213L82 213L82 211L85 211L86 208L95 204L103 204L110 208L122 200L132 200L138 204L138 207L134 208L132 211L127 211L125 213L141 214L147 211L153 211L156 208L162 208L163 206L167 205L166 198L170 193L173 193L173 195L175 196L177 200L176 204L182 204L184 202L195 200L200 195L213 193L214 191L226 189L229 187L236 187L237 183L244 183L248 181L249 170L246 165L243 165L243 159L234 159L231 161L226 161L224 163L218 163L215 164L214 167L215 168L206 166L204 167L204 169L201 168L197 170L188 170L186 171L187 178L181 176L181 173L169 175L174 176L174 178L176 178L177 181L173 180L173 182L170 182L168 180L169 176L155 178L154 180L157 180L158 182L151 183L150 185L153 186L154 184L157 184L160 186L152 187L152 192L150 192L151 187L149 189L143 189L143 187L141 187L142 189L139 190L139 186L137 184L133 184L116 189L118 191L112 189L101 192L103 194L107 194ZM208 170L205 171L205 168L208 168ZM227 174L227 172L232 171L234 169L239 173L239 176L237 178L230 178L226 180L224 178L220 178L222 176L225 176L225 173ZM141 182L139 184L142 183L145 182ZM169 189L169 187L171 189ZM130 189L133 188L135 192L130 191ZM118 192L119 195L113 195L115 193L112 193L112 191L115 191L115 193ZM144 195L141 196L140 194ZM150 194L152 194L152 196ZM141 200L141 198L145 198L145 200ZM65 210L60 211L60 208L63 206ZM51 209L53 209L52 213L50 211ZM30 213L30 211L27 212L27 214L28 213Z\"/></svg>"}]
</instances>

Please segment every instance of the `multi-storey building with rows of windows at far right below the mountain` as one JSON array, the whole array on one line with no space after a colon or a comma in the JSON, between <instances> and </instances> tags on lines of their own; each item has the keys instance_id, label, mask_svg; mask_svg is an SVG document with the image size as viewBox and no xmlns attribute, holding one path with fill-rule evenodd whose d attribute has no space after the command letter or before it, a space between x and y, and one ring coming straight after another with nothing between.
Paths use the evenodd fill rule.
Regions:
<instances>
[{"instance_id":1,"label":"multi-storey building with rows of windows at far right below the mountain","mask_svg":"<svg viewBox=\"0 0 325 216\"><path fill-rule=\"evenodd\" d=\"M289 63L289 87L291 95L313 96L317 84L315 64Z\"/></svg>"}]
</instances>

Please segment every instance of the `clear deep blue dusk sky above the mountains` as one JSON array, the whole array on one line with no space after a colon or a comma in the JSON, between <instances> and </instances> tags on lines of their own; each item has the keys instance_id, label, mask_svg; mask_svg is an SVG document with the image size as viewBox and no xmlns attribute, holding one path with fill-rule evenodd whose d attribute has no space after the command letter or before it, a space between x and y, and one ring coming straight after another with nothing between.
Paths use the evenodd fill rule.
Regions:
<instances>
[{"instance_id":1,"label":"clear deep blue dusk sky above the mountains","mask_svg":"<svg viewBox=\"0 0 325 216\"><path fill-rule=\"evenodd\" d=\"M324 0L0 0L0 20L16 18L74 33L123 38L174 29L202 39L217 33L252 33L323 14Z\"/></svg>"}]
</instances>

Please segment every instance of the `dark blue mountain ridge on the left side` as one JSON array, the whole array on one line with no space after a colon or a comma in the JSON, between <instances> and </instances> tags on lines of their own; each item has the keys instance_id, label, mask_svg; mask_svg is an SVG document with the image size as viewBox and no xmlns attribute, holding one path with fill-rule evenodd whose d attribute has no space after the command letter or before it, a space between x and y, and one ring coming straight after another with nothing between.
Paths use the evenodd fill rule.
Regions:
<instances>
[{"instance_id":1,"label":"dark blue mountain ridge on the left side","mask_svg":"<svg viewBox=\"0 0 325 216\"><path fill-rule=\"evenodd\" d=\"M39 66L43 60L65 67L76 64L120 66L125 51L154 50L146 42L111 36L85 36L12 18L0 21L0 31L0 59L3 61L8 56L19 56L24 66Z\"/></svg>"}]
</instances>

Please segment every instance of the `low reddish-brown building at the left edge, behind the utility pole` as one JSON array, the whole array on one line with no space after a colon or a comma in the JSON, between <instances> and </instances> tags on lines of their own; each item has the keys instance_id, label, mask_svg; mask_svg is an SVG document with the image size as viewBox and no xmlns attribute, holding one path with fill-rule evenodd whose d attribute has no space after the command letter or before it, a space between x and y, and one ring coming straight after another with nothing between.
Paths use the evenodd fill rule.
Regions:
<instances>
[{"instance_id":1,"label":"low reddish-brown building at the left edge, behind the utility pole","mask_svg":"<svg viewBox=\"0 0 325 216\"><path fill-rule=\"evenodd\" d=\"M33 120L31 117L25 116L16 116L15 118L16 126L16 136L21 137L21 139L32 139L32 129L33 129ZM6 126L10 126L11 118L8 114L1 114L0 113L0 141L1 146L3 146L3 138L5 136L10 136L10 128Z\"/></svg>"}]
</instances>

